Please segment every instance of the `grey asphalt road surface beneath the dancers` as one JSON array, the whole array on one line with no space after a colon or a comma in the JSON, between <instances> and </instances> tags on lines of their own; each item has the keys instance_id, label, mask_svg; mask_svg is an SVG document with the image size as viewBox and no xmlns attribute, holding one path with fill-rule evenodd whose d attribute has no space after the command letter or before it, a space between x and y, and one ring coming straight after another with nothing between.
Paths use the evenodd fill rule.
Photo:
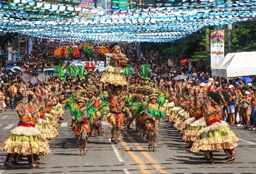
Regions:
<instances>
[{"instance_id":1,"label":"grey asphalt road surface beneath the dancers","mask_svg":"<svg viewBox=\"0 0 256 174\"><path fill-rule=\"evenodd\" d=\"M109 138L111 127L104 119L103 136L90 138L88 154L80 156L75 148L75 135L70 128L70 113L65 110L64 120L58 127L60 135L50 140L52 153L40 161L44 164L38 169L29 169L28 161L12 166L1 173L256 173L256 134L232 126L237 134L239 146L236 148L236 162L226 164L224 152L214 153L215 164L204 164L200 160L203 154L194 154L182 148L180 132L163 122L159 128L157 152L148 152L148 143L140 138L136 131L127 131L122 127L120 143L111 145ZM17 125L16 111L0 113L0 142L10 136ZM6 152L0 151L0 165L6 158ZM26 159L26 157L24 157Z\"/></svg>"}]
</instances>

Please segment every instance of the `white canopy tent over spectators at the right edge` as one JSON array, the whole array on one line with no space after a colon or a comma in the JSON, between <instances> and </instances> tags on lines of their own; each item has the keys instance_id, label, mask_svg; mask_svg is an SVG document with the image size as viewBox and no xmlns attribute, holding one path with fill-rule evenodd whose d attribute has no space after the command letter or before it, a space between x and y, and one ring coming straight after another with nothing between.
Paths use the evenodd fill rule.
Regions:
<instances>
[{"instance_id":1,"label":"white canopy tent over spectators at the right edge","mask_svg":"<svg viewBox=\"0 0 256 174\"><path fill-rule=\"evenodd\" d=\"M229 55L228 55L229 54ZM238 77L256 74L256 52L228 53L214 67L213 76ZM220 65L219 65L220 64ZM212 69L212 70L213 70Z\"/></svg>"}]
</instances>

